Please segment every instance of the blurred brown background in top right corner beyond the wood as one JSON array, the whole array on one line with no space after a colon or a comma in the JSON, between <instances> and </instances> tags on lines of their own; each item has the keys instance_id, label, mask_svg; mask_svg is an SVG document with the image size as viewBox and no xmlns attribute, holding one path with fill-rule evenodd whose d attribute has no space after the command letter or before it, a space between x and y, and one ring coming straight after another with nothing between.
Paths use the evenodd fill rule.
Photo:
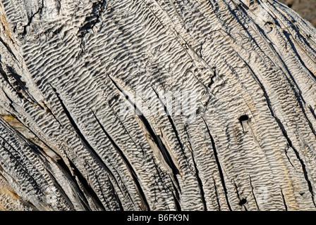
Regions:
<instances>
[{"instance_id":1,"label":"blurred brown background in top right corner beyond the wood","mask_svg":"<svg viewBox=\"0 0 316 225\"><path fill-rule=\"evenodd\" d=\"M316 0L278 0L316 27Z\"/></svg>"}]
</instances>

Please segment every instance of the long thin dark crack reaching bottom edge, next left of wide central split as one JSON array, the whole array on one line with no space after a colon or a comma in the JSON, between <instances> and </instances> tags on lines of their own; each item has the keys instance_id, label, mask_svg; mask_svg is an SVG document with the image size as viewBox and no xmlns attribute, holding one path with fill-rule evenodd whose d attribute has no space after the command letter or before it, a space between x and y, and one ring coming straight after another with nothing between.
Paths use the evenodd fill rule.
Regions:
<instances>
[{"instance_id":1,"label":"long thin dark crack reaching bottom edge, next left of wide central split","mask_svg":"<svg viewBox=\"0 0 316 225\"><path fill-rule=\"evenodd\" d=\"M92 110L91 110L92 111ZM109 141L111 142L111 145L119 152L119 155L121 155L121 158L123 160L123 162L126 164L126 166L128 167L128 170L130 170L130 174L133 177L133 180L135 182L135 185L138 188L138 193L140 194L140 198L142 200L142 203L145 204L146 209L142 209L142 210L150 210L150 205L147 202L147 198L145 196L145 193L142 191L142 187L140 186L140 182L138 180L138 176L135 172L135 170L133 169L132 165L130 165L130 162L128 161L128 159L126 158L126 156L124 155L123 151L121 150L121 148L119 148L119 146L117 146L117 144L115 143L115 141L111 138L111 136L109 136L109 134L107 133L107 131L104 129L103 125L101 124L101 122L99 121L99 119L97 118L97 116L95 115L95 113L92 111L92 114L95 116L95 120L97 120L97 123L99 124L99 126L101 127L102 131L104 132L104 134L107 136L107 138L109 139Z\"/></svg>"}]
</instances>

